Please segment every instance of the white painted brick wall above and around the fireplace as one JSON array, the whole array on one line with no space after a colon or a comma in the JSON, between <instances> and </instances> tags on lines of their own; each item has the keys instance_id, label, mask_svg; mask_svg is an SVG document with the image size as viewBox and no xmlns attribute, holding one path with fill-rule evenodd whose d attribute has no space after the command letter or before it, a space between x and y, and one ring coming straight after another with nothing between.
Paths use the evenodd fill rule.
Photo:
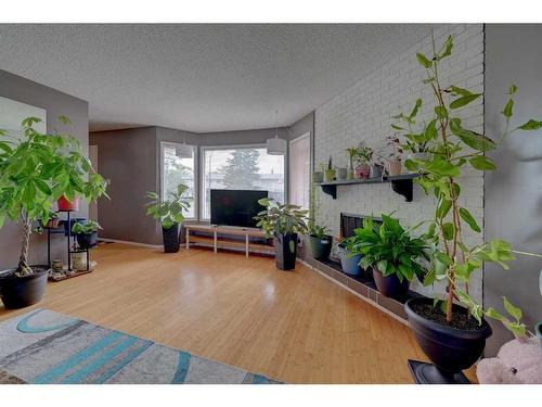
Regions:
<instances>
[{"instance_id":1,"label":"white painted brick wall above and around the fireplace","mask_svg":"<svg viewBox=\"0 0 542 407\"><path fill-rule=\"evenodd\" d=\"M454 49L452 58L440 65L440 78L443 85L455 85L477 92L483 92L483 25L460 24L439 25L435 27L437 46L448 35L453 35ZM354 147L360 140L373 148L383 148L386 137L391 133L391 116L400 111L408 112L417 98L424 100L418 118L427 117L435 106L433 93L427 85L422 84L425 69L417 63L416 52L430 54L430 36L420 41L389 62L380 66L367 77L358 81L336 98L330 100L315 111L314 124L314 162L326 163L330 155L335 165L348 166L348 147ZM467 112L459 112L464 125L475 131L483 129L483 101L481 98L468 105ZM460 180L462 185L461 204L466 206L479 225L483 225L483 176L472 168L465 171ZM364 186L340 186L337 199L318 192L318 214L320 222L327 225L334 233L339 231L341 212L360 215L396 211L404 225L414 225L431 218L435 211L433 196L426 196L423 190L414 186L413 202L404 202L401 195L391 191L387 183ZM464 231L466 244L481 241L469 231ZM414 281L415 291L431 294L431 288L424 288ZM442 293L441 287L435 291ZM473 276L469 292L481 301L481 272Z\"/></svg>"}]
</instances>

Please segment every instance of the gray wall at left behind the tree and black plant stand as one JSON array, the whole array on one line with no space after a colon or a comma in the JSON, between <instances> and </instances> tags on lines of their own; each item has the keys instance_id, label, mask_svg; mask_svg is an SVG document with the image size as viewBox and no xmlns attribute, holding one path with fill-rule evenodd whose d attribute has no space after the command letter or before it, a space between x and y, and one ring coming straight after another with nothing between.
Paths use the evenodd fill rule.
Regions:
<instances>
[{"instance_id":1,"label":"gray wall at left behind the tree and black plant stand","mask_svg":"<svg viewBox=\"0 0 542 407\"><path fill-rule=\"evenodd\" d=\"M52 132L57 129L74 135L81 142L85 154L88 154L88 102L1 69L0 96L44 109L47 111L47 130ZM56 120L60 115L69 117L73 125L64 126L60 124ZM80 211L76 215L81 217L88 215L88 204L86 202L81 202ZM0 269L17 265L21 250L20 236L20 226L9 221L0 230ZM52 237L52 258L63 258L64 262L67 262L64 243L63 237L57 234ZM33 234L29 260L35 264L47 262L47 239L44 234Z\"/></svg>"}]
</instances>

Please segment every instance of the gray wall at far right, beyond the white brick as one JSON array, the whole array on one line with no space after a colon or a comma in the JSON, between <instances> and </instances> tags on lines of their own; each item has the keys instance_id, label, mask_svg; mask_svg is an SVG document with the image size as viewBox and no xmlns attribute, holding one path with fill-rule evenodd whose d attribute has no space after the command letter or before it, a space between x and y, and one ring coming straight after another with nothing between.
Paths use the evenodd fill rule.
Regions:
<instances>
[{"instance_id":1,"label":"gray wall at far right, beyond the white brick","mask_svg":"<svg viewBox=\"0 0 542 407\"><path fill-rule=\"evenodd\" d=\"M500 112L511 84L519 88L513 124L542 119L541 42L541 25L486 26L486 131L494 139L503 133ZM486 174L486 239L501 238L516 250L542 253L542 131L514 133L491 156L499 168ZM509 271L487 264L485 305L503 311L501 296L505 295L522 308L532 329L542 320L541 269L542 259L519 255ZM512 338L501 325L492 326L488 356Z\"/></svg>"}]
</instances>

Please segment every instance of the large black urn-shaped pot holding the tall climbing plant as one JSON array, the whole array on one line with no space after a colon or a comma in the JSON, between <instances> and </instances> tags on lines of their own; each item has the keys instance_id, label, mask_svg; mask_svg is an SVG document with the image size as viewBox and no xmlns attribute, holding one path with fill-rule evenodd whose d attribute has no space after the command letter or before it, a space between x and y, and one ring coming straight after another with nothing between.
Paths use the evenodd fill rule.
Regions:
<instances>
[{"instance_id":1,"label":"large black urn-shaped pot holding the tall climbing plant","mask_svg":"<svg viewBox=\"0 0 542 407\"><path fill-rule=\"evenodd\" d=\"M417 383L447 384L468 383L461 372L473 366L482 355L486 340L491 336L491 327L485 320L479 329L466 330L448 327L418 315L416 305L433 306L431 298L411 298L404 304L404 310L416 341L434 363L423 364L409 360ZM467 314L468 310L453 305L453 313Z\"/></svg>"}]
</instances>

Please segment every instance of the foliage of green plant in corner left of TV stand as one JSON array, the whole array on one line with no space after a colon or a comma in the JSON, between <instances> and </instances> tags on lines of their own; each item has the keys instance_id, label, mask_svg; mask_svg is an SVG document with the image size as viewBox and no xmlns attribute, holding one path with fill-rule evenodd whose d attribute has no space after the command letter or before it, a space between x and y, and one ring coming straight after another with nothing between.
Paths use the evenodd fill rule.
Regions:
<instances>
[{"instance_id":1,"label":"foliage of green plant in corner left of TV stand","mask_svg":"<svg viewBox=\"0 0 542 407\"><path fill-rule=\"evenodd\" d=\"M147 192L146 198L152 201L146 204L146 214L158 220L165 229L184 220L183 212L190 209L190 199L183 196L189 187L179 183L177 192L169 192L165 200L160 200L156 192Z\"/></svg>"}]
</instances>

